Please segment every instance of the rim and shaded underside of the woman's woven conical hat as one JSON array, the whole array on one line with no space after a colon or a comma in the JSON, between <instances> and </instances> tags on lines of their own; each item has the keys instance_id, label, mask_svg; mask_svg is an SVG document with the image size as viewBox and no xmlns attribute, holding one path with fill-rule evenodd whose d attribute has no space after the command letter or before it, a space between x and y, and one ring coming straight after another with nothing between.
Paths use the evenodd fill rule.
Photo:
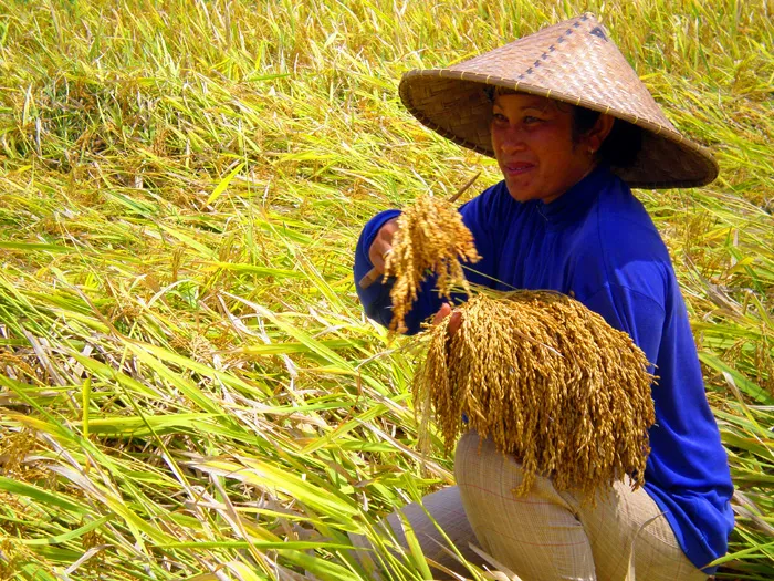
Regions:
<instances>
[{"instance_id":1,"label":"rim and shaded underside of the woman's woven conical hat","mask_svg":"<svg viewBox=\"0 0 774 581\"><path fill-rule=\"evenodd\" d=\"M709 151L669 127L529 83L468 71L430 69L406 73L399 93L408 111L425 126L463 147L494 157L490 134L492 103L483 90L484 85L579 105L645 129L642 147L634 165L613 168L630 187L699 187L718 177L718 164Z\"/></svg>"}]
</instances>

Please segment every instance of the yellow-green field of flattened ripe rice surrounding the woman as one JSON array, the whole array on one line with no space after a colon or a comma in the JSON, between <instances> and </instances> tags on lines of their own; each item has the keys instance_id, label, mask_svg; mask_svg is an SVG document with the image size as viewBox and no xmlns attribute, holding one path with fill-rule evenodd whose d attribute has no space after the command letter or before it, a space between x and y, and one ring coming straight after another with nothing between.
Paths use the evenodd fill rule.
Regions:
<instances>
[{"instance_id":1,"label":"yellow-green field of flattened ripe rice surrounding the woman","mask_svg":"<svg viewBox=\"0 0 774 581\"><path fill-rule=\"evenodd\" d=\"M774 579L768 0L0 0L0 579L369 579L349 532L431 579L375 525L451 458L419 453L416 343L363 315L353 251L500 178L397 84L584 10L720 163L637 196L736 486L718 578Z\"/></svg>"}]
</instances>

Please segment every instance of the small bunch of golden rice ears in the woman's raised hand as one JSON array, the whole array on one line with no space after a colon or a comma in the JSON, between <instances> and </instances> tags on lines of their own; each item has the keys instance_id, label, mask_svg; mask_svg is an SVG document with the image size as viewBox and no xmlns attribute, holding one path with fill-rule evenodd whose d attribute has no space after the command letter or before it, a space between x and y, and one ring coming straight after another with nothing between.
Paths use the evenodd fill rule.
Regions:
<instances>
[{"instance_id":1,"label":"small bunch of golden rice ears in the woman's raised hand","mask_svg":"<svg viewBox=\"0 0 774 581\"><path fill-rule=\"evenodd\" d=\"M438 276L438 292L451 298L454 286L469 290L460 260L477 262L473 236L460 214L446 200L420 196L398 217L393 251L387 255L385 277L395 277L390 290L390 330L406 331L406 314L417 300L419 286L428 271Z\"/></svg>"}]
</instances>

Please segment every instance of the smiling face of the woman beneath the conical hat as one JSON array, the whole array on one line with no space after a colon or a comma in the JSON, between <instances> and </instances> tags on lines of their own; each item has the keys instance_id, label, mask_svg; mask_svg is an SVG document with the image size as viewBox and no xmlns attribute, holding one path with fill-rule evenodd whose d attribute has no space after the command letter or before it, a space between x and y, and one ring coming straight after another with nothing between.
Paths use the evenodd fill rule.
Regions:
<instances>
[{"instance_id":1,"label":"smiling face of the woman beneath the conical hat","mask_svg":"<svg viewBox=\"0 0 774 581\"><path fill-rule=\"evenodd\" d=\"M605 117L573 143L572 105L522 93L498 95L492 146L511 196L547 204L577 184L594 167L593 153L609 132L597 127L611 125Z\"/></svg>"}]
</instances>

